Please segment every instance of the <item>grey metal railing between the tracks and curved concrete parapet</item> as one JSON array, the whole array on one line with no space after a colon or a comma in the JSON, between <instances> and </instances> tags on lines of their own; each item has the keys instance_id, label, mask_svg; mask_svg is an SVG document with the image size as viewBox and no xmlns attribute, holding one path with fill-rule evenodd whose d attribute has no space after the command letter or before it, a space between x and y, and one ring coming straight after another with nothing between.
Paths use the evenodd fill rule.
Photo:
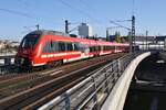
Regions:
<instances>
[{"instance_id":1,"label":"grey metal railing between the tracks and curved concrete parapet","mask_svg":"<svg viewBox=\"0 0 166 110\"><path fill-rule=\"evenodd\" d=\"M39 110L98 110L135 56L137 54L128 54L113 61L63 95L39 108Z\"/></svg>"}]
</instances>

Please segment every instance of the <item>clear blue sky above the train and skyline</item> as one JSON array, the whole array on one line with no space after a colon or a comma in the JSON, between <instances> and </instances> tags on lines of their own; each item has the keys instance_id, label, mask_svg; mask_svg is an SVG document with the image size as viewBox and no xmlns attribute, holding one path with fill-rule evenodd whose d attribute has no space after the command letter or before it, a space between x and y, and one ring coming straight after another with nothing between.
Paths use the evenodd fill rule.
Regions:
<instances>
[{"instance_id":1,"label":"clear blue sky above the train and skyline","mask_svg":"<svg viewBox=\"0 0 166 110\"><path fill-rule=\"evenodd\" d=\"M166 0L1 0L0 3L0 38L20 40L35 24L40 29L64 31L64 20L73 23L70 29L81 22L92 25L94 34L105 36L105 28L115 26L110 20L128 20L136 16L136 33L166 35ZM122 22L131 26L131 22ZM113 29L111 34L124 29Z\"/></svg>"}]
</instances>

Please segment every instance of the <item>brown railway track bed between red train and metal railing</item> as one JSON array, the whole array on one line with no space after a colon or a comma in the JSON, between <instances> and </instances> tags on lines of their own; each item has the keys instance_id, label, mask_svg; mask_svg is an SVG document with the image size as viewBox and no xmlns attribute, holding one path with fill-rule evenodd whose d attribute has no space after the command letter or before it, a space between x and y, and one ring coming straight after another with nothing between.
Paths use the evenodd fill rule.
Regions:
<instances>
[{"instance_id":1,"label":"brown railway track bed between red train and metal railing","mask_svg":"<svg viewBox=\"0 0 166 110\"><path fill-rule=\"evenodd\" d=\"M38 108L93 74L96 68L123 55L123 53L106 55L64 65L45 73L39 72L0 80L0 107L12 110Z\"/></svg>"}]
</instances>

